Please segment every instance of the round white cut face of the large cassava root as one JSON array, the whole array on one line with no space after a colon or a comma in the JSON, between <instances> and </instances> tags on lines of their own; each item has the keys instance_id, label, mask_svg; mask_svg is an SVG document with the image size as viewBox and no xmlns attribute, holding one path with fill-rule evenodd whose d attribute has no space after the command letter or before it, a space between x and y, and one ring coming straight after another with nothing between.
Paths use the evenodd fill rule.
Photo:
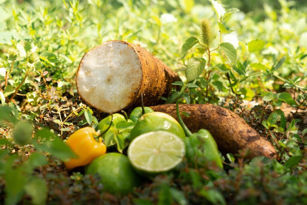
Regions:
<instances>
[{"instance_id":1,"label":"round white cut face of the large cassava root","mask_svg":"<svg viewBox=\"0 0 307 205\"><path fill-rule=\"evenodd\" d=\"M80 96L103 112L130 104L142 83L136 51L122 41L108 41L84 55L76 77Z\"/></svg>"}]
</instances>

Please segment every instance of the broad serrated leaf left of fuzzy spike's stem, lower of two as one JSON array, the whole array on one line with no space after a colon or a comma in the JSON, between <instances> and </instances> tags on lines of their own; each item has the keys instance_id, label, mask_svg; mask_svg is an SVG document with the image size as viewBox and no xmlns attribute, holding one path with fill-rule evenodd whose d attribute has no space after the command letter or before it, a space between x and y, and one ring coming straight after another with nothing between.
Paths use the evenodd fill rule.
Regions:
<instances>
[{"instance_id":1,"label":"broad serrated leaf left of fuzzy spike's stem, lower of two","mask_svg":"<svg viewBox=\"0 0 307 205\"><path fill-rule=\"evenodd\" d=\"M185 71L187 82L195 80L203 72L206 66L206 61L199 58L190 58L188 60L187 69Z\"/></svg>"}]
</instances>

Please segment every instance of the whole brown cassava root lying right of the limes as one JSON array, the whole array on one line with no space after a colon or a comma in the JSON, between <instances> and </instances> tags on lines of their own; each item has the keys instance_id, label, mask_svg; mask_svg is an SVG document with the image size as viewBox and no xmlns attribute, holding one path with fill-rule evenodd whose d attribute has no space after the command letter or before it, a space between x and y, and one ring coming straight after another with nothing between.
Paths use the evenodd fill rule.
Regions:
<instances>
[{"instance_id":1,"label":"whole brown cassava root lying right of the limes","mask_svg":"<svg viewBox=\"0 0 307 205\"><path fill-rule=\"evenodd\" d=\"M163 104L151 107L154 111L165 112L176 120L176 104ZM182 116L192 133L207 129L214 137L222 153L238 153L247 149L248 157L266 156L275 158L273 145L251 128L239 115L213 104L179 104L180 112L191 113Z\"/></svg>"}]
</instances>

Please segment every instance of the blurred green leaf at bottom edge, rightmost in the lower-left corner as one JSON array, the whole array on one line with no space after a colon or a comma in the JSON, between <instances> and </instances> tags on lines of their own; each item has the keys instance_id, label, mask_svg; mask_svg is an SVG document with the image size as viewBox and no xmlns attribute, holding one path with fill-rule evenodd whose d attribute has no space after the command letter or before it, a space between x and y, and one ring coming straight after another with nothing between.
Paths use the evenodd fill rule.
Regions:
<instances>
[{"instance_id":1,"label":"blurred green leaf at bottom edge, rightmost in the lower-left corner","mask_svg":"<svg viewBox=\"0 0 307 205\"><path fill-rule=\"evenodd\" d=\"M46 204L48 187L44 179L31 179L31 181L25 185L25 191L31 197L34 205Z\"/></svg>"}]
</instances>

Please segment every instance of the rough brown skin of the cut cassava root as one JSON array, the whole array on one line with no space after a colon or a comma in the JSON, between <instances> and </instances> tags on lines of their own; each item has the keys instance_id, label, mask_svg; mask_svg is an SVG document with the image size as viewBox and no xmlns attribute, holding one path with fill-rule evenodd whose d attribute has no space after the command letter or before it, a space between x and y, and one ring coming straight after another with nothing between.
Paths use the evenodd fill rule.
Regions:
<instances>
[{"instance_id":1,"label":"rough brown skin of the cut cassava root","mask_svg":"<svg viewBox=\"0 0 307 205\"><path fill-rule=\"evenodd\" d=\"M119 40L115 40L119 41ZM109 42L109 41L107 41ZM131 106L137 106L141 103L141 93L143 93L143 101L145 106L155 104L159 100L159 96L166 96L171 91L175 81L181 81L180 77L162 61L151 55L147 50L142 48L140 45L134 45L126 41L120 41L130 46L138 55L142 67L142 81L136 92L131 92L129 98L131 102L125 107L130 108ZM94 47L95 48L95 47ZM94 49L93 48L93 49ZM86 54L85 54L86 55ZM85 56L84 55L84 56ZM82 65L82 59L79 64L79 68L76 74L76 79ZM95 104L87 102L85 98L79 92L78 82L76 81L77 91L87 104L100 110ZM103 103L103 99L100 103ZM125 109L122 108L122 109ZM103 110L100 110L104 112ZM117 111L115 111L117 112Z\"/></svg>"}]
</instances>

